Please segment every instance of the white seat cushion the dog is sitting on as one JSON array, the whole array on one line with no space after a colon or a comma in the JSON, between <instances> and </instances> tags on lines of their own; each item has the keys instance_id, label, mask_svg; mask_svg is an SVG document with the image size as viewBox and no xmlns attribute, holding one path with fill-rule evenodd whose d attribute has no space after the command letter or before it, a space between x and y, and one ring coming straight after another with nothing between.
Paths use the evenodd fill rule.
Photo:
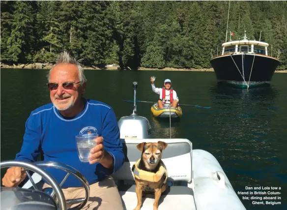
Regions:
<instances>
[{"instance_id":1,"label":"white seat cushion the dog is sitting on","mask_svg":"<svg viewBox=\"0 0 287 210\"><path fill-rule=\"evenodd\" d=\"M120 185L118 186L118 191L122 199L123 209L135 209L138 203L136 185ZM141 210L152 210L154 195L145 195L142 203ZM193 191L186 186L168 187L166 191L162 193L158 204L158 210L196 210Z\"/></svg>"}]
</instances>

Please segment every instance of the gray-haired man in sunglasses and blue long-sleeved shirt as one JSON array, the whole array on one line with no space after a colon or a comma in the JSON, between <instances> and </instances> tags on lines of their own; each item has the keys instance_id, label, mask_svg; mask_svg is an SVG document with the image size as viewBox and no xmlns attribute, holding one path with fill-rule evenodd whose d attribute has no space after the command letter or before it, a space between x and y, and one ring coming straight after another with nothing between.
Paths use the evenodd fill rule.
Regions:
<instances>
[{"instance_id":1,"label":"gray-haired man in sunglasses and blue long-sleeved shirt","mask_svg":"<svg viewBox=\"0 0 287 210\"><path fill-rule=\"evenodd\" d=\"M122 210L121 198L112 175L124 162L119 128L112 107L86 99L86 77L81 65L66 52L62 53L48 73L52 103L32 111L27 122L21 151L15 160L36 161L40 150L44 160L58 161L80 171L90 185L85 210ZM99 135L91 150L90 162L79 160L75 136ZM46 168L60 182L65 172ZM5 186L15 187L25 179L23 169L11 167L2 179ZM43 188L49 186L44 184ZM84 198L82 184L73 176L62 185L66 199ZM71 207L77 206L74 204Z\"/></svg>"}]
</instances>

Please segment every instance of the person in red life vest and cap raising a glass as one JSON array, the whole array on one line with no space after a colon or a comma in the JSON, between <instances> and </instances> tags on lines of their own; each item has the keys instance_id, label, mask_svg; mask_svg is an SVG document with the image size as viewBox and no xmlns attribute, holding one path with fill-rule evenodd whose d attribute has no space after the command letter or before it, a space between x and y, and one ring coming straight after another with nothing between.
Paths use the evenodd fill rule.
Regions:
<instances>
[{"instance_id":1,"label":"person in red life vest and cap raising a glass","mask_svg":"<svg viewBox=\"0 0 287 210\"><path fill-rule=\"evenodd\" d=\"M171 107L176 108L178 105L178 97L175 92L175 90L172 89L172 81L170 79L166 79L164 82L163 88L156 88L154 85L154 80L152 77L150 77L150 82L151 82L151 88L152 91L155 93L159 94L159 100L158 100L158 107L164 108L169 106L171 104Z\"/></svg>"}]
</instances>

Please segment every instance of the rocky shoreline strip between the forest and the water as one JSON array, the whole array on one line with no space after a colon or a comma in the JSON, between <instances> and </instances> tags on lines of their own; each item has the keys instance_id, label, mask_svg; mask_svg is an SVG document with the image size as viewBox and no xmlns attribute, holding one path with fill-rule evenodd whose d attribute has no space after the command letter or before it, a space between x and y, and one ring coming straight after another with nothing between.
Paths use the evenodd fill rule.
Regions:
<instances>
[{"instance_id":1,"label":"rocky shoreline strip between the forest and the water","mask_svg":"<svg viewBox=\"0 0 287 210\"><path fill-rule=\"evenodd\" d=\"M29 69L51 69L53 67L53 63L27 63L27 64L19 64L19 65L7 65L4 63L0 64L1 68L29 68ZM107 66L104 69L95 67L95 66L83 66L84 69L95 69L95 70L120 70L119 66ZM131 70L129 67L125 70ZM139 67L140 71L213 71L213 68L144 68ZM276 70L275 72L287 73L287 70Z\"/></svg>"}]
</instances>

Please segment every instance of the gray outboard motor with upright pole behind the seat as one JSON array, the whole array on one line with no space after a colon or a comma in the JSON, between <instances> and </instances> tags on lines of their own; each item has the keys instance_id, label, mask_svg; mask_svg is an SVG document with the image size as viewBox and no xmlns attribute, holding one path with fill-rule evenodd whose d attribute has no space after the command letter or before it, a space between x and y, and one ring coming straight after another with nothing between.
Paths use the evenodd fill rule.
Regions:
<instances>
[{"instance_id":1,"label":"gray outboard motor with upright pole behind the seat","mask_svg":"<svg viewBox=\"0 0 287 210\"><path fill-rule=\"evenodd\" d=\"M122 117L118 120L121 139L150 139L151 126L149 121L137 114L136 89L138 82L133 82L134 88L134 108L130 116Z\"/></svg>"}]
</instances>

